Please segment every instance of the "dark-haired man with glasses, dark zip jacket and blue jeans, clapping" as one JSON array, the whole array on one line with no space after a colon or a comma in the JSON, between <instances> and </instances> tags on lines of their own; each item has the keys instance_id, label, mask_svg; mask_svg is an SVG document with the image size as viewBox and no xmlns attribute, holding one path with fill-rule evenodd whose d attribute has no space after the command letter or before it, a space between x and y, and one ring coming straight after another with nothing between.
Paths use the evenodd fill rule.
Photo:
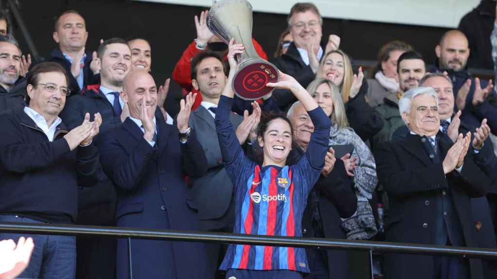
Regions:
<instances>
[{"instance_id":1,"label":"dark-haired man with glasses, dark zip jacket and blue jeans, clapping","mask_svg":"<svg viewBox=\"0 0 497 279\"><path fill-rule=\"evenodd\" d=\"M72 224L78 215L78 185L97 180L99 114L85 113L72 130L58 117L69 78L52 62L27 76L27 106L0 117L0 222ZM21 278L75 278L76 237L0 233L0 240L31 237L35 247Z\"/></svg>"}]
</instances>

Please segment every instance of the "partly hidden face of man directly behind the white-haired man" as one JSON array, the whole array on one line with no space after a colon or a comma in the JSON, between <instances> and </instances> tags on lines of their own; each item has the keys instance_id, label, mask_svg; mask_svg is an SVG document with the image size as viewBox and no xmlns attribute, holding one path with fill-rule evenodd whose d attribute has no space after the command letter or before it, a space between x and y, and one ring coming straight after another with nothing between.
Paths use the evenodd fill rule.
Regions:
<instances>
[{"instance_id":1,"label":"partly hidden face of man directly behind the white-haired man","mask_svg":"<svg viewBox=\"0 0 497 279\"><path fill-rule=\"evenodd\" d=\"M424 81L423 86L433 87L438 95L438 115L440 119L451 118L454 113L454 93L452 84L441 76L430 77Z\"/></svg>"}]
</instances>

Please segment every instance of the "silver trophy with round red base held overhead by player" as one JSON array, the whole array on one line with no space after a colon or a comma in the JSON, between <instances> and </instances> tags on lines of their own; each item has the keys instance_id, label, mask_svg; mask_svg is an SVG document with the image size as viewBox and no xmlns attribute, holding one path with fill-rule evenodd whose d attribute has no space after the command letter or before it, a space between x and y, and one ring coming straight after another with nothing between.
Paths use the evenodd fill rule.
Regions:
<instances>
[{"instance_id":1,"label":"silver trophy with round red base held overhead by player","mask_svg":"<svg viewBox=\"0 0 497 279\"><path fill-rule=\"evenodd\" d=\"M260 58L252 45L252 5L246 0L222 0L209 10L207 26L223 42L233 38L243 44L245 52L237 55L239 69L233 80L233 91L240 98L255 100L269 94L268 82L278 82L276 66Z\"/></svg>"}]
</instances>

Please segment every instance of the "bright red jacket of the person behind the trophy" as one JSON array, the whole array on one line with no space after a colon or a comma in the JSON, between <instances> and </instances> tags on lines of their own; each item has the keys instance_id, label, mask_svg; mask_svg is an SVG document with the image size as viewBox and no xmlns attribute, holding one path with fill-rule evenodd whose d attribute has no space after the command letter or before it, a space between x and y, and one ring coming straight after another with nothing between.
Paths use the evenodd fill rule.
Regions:
<instances>
[{"instance_id":1,"label":"bright red jacket of the person behind the trophy","mask_svg":"<svg viewBox=\"0 0 497 279\"><path fill-rule=\"evenodd\" d=\"M252 44L260 58L267 60L267 54L264 52L259 43L257 43L257 41L253 38ZM195 110L200 105L200 102L202 102L202 96L198 91L193 89L191 85L190 75L191 60L199 52L200 50L195 47L195 42L192 42L183 52L183 55L179 59L178 63L176 63L176 66L172 71L172 79L184 89L183 95L188 94L190 91L198 93L195 103L193 103L192 110ZM225 56L224 59L227 60L227 57Z\"/></svg>"}]
</instances>

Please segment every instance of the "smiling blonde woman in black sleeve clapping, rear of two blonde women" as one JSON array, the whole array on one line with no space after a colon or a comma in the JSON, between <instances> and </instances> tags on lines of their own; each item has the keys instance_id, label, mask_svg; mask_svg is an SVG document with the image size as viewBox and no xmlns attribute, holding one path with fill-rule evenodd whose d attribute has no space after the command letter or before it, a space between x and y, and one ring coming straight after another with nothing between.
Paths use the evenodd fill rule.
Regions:
<instances>
[{"instance_id":1,"label":"smiling blonde woman in black sleeve clapping, rear of two blonde women","mask_svg":"<svg viewBox=\"0 0 497 279\"><path fill-rule=\"evenodd\" d=\"M350 127L363 141L371 139L383 128L383 120L366 102L368 83L362 68L354 74L350 59L343 51L327 53L321 60L317 77L336 84Z\"/></svg>"}]
</instances>

